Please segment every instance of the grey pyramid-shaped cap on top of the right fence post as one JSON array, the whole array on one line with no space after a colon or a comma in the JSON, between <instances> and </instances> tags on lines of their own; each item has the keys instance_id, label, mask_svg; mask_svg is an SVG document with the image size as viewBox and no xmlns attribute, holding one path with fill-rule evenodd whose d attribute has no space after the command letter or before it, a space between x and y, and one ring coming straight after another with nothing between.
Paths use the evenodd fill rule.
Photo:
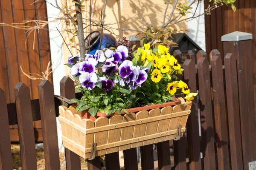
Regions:
<instances>
[{"instance_id":1,"label":"grey pyramid-shaped cap on top of the right fence post","mask_svg":"<svg viewBox=\"0 0 256 170\"><path fill-rule=\"evenodd\" d=\"M253 34L240 31L235 31L221 37L221 41L243 41L251 39L253 39Z\"/></svg>"}]
</instances>

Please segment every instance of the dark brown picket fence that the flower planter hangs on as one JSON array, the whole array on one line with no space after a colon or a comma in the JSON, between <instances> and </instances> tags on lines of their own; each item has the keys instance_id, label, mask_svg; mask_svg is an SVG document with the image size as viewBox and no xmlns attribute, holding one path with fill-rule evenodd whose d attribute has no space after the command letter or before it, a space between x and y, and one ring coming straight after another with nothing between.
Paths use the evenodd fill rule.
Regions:
<instances>
[{"instance_id":1,"label":"dark brown picket fence that the flower planter hangs on","mask_svg":"<svg viewBox=\"0 0 256 170\"><path fill-rule=\"evenodd\" d=\"M178 141L157 143L159 170L249 170L249 163L256 161L250 43L251 40L224 42L227 51L224 65L217 50L211 52L210 62L204 51L198 54L188 51L186 56L175 51L177 59L186 58L181 78L191 91L198 90L199 96L193 100L186 134ZM60 86L61 96L68 99L79 96L69 77L64 77ZM12 170L9 125L15 124L19 127L22 169L37 169L32 121L40 119L46 170L60 170L55 117L61 102L54 97L52 84L42 80L38 85L39 99L35 100L30 99L24 83L18 83L14 92L16 102L6 104L6 93L0 90L0 170ZM173 144L174 164L171 164L170 144ZM67 170L81 170L79 156L68 149L65 153ZM137 170L136 148L123 153L125 170ZM140 153L142 169L153 170L152 145L140 147ZM107 170L120 169L118 152L106 154L105 160ZM101 170L99 156L87 160L87 164L88 170Z\"/></svg>"}]
</instances>

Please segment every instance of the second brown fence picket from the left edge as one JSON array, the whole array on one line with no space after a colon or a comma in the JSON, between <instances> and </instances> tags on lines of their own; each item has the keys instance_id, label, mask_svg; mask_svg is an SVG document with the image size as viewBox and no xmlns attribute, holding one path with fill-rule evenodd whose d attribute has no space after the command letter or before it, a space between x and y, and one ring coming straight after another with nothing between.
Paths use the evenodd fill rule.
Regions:
<instances>
[{"instance_id":1,"label":"second brown fence picket from the left edge","mask_svg":"<svg viewBox=\"0 0 256 170\"><path fill-rule=\"evenodd\" d=\"M37 170L30 100L29 87L22 82L17 83L15 86L15 101L20 139L21 167L23 170Z\"/></svg>"}]
</instances>

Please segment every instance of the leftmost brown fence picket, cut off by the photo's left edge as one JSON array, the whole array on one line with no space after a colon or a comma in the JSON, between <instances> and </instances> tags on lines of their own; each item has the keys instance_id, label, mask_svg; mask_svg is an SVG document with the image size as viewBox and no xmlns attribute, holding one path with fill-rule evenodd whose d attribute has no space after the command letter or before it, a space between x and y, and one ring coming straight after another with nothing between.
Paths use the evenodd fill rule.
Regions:
<instances>
[{"instance_id":1,"label":"leftmost brown fence picket, cut off by the photo's left edge","mask_svg":"<svg viewBox=\"0 0 256 170\"><path fill-rule=\"evenodd\" d=\"M0 170L13 170L6 93L0 88Z\"/></svg>"}]
</instances>

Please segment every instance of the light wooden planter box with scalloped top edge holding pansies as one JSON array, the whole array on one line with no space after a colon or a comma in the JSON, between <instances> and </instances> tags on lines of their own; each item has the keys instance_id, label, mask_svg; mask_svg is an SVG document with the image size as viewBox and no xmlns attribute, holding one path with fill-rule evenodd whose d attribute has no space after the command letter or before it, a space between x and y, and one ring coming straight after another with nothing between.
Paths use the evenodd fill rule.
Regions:
<instances>
[{"instance_id":1,"label":"light wooden planter box with scalloped top edge holding pansies","mask_svg":"<svg viewBox=\"0 0 256 170\"><path fill-rule=\"evenodd\" d=\"M93 159L134 147L178 140L186 129L192 102L176 103L157 105L149 110L142 107L142 111L98 117L95 121L81 119L81 114L73 113L74 109L59 106L63 145L84 159Z\"/></svg>"}]
</instances>

